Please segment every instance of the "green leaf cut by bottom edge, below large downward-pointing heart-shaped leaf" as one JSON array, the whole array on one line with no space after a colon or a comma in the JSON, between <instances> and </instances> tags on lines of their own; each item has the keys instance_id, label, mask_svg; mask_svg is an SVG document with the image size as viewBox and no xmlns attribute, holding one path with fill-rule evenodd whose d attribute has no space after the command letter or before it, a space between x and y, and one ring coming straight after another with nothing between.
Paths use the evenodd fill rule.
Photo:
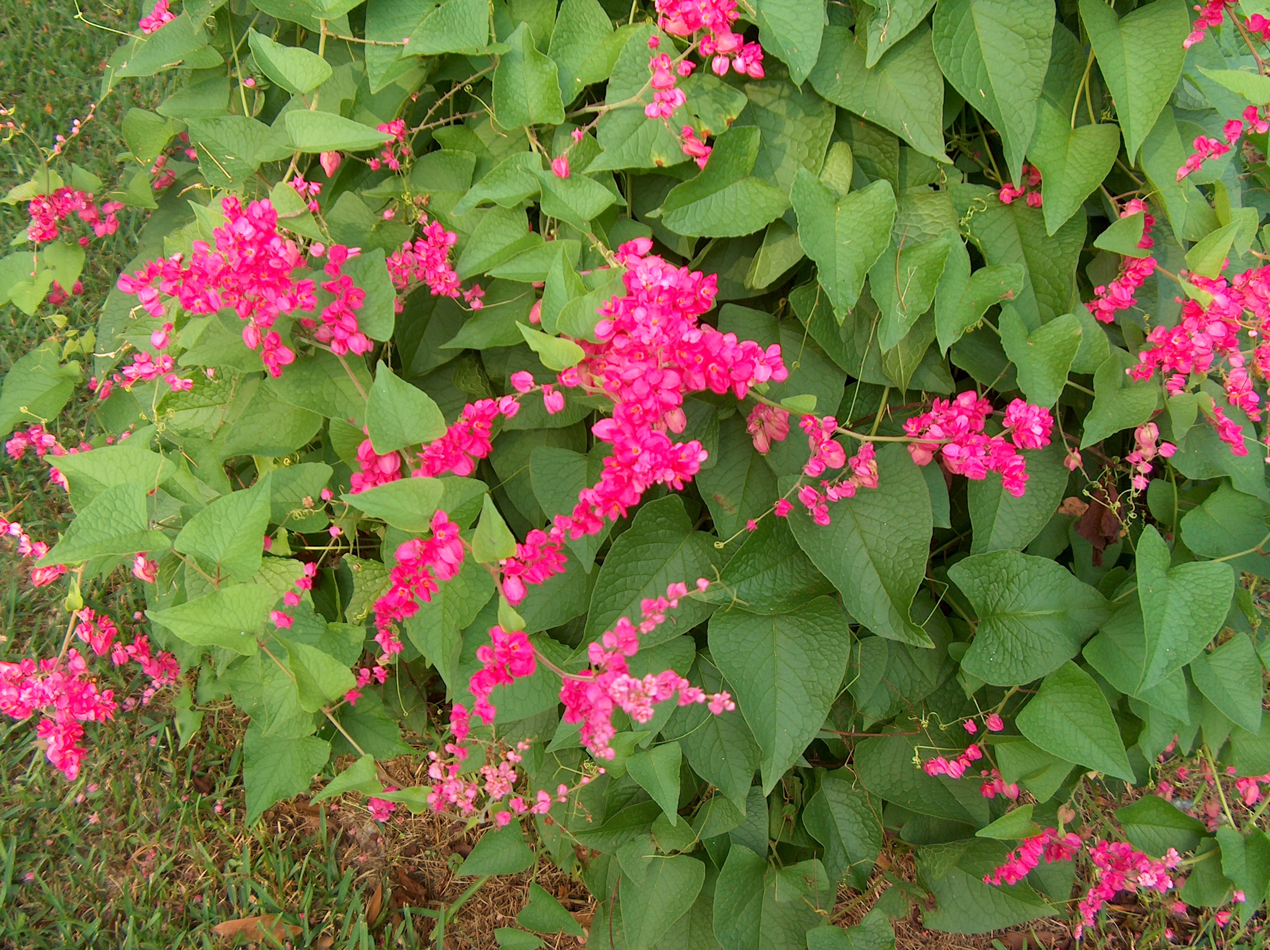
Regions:
<instances>
[{"instance_id":1,"label":"green leaf cut by bottom edge, below large downward-pointing heart-shaped leaf","mask_svg":"<svg viewBox=\"0 0 1270 950\"><path fill-rule=\"evenodd\" d=\"M724 950L805 950L823 922L833 889L819 861L773 867L748 847L733 847L719 871L714 932Z\"/></svg>"}]
</instances>

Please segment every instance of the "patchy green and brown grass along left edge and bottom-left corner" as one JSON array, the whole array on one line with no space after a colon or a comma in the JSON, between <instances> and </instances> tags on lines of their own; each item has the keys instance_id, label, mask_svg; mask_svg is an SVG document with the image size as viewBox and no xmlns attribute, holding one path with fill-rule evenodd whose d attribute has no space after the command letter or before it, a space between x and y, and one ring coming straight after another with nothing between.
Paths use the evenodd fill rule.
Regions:
<instances>
[{"instance_id":1,"label":"patchy green and brown grass along left edge and bottom-left corner","mask_svg":"<svg viewBox=\"0 0 1270 950\"><path fill-rule=\"evenodd\" d=\"M132 5L83 6L88 20L112 29L135 27ZM23 127L5 145L0 194L27 180L74 118L88 114L102 67L118 44L109 29L75 19L74 0L6 0L0 4L0 105ZM108 184L123 151L117 130L132 105L152 107L157 81L123 88L107 98L66 159ZM60 307L69 329L88 330L116 274L132 257L142 217L124 213L112 238L94 241L84 269L84 293ZM27 222L24 206L0 206L5 245ZM0 373L41 339L58 331L47 304L34 318L0 307ZM89 428L88 404L67 408L52 425L75 445ZM69 513L65 495L47 484L33 457L0 461L0 513L22 521L33 537L55 540ZM138 626L137 592L123 584L90 606L121 627ZM0 659L51 655L60 646L66 613L60 588L33 589L25 568L0 540ZM118 696L138 681L98 662ZM241 812L240 721L227 707L204 716L201 735L179 749L164 697L122 711L89 729L90 758L69 782L33 746L32 723L0 724L0 947L197 947L226 946L212 927L227 920L284 912L306 946L418 946L408 914L371 937L366 895L378 864L361 865L344 826L325 812L276 813L245 829ZM353 809L345 808L347 813ZM364 814L362 815L364 824ZM354 848L356 850L356 848ZM362 859L366 860L364 857ZM385 902L386 903L386 902ZM414 918L415 926L420 918Z\"/></svg>"}]
</instances>

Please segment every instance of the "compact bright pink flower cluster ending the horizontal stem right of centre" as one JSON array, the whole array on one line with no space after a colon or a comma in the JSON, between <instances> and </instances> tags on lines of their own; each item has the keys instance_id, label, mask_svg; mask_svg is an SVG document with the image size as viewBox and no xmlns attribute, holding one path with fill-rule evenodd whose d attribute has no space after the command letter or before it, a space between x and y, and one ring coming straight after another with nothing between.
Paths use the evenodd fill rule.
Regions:
<instances>
[{"instance_id":1,"label":"compact bright pink flower cluster ending the horizontal stem right of centre","mask_svg":"<svg viewBox=\"0 0 1270 950\"><path fill-rule=\"evenodd\" d=\"M983 479L996 471L1005 489L1020 498L1026 492L1027 464L1019 450L1048 446L1054 418L1048 409L1016 399L1002 417L1002 427L1010 434L1007 441L1005 436L984 433L991 413L992 404L974 390L951 400L936 398L930 411L904 422L904 434L918 439L909 443L908 453L917 465L930 465L939 452L947 471L968 479Z\"/></svg>"}]
</instances>

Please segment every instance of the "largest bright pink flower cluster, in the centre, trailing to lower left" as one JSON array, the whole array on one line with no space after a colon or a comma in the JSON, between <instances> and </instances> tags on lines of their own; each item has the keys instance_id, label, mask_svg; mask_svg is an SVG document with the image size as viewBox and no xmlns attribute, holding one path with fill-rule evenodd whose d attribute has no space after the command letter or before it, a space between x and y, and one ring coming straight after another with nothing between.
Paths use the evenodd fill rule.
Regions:
<instances>
[{"instance_id":1,"label":"largest bright pink flower cluster, in the centre, trailing to lower left","mask_svg":"<svg viewBox=\"0 0 1270 950\"><path fill-rule=\"evenodd\" d=\"M652 246L639 238L618 248L626 293L605 302L599 342L578 340L585 358L559 377L563 386L606 394L615 405L612 418L592 425L613 451L573 512L556 516L549 532L555 542L598 533L606 518L625 517L650 486L678 490L697 474L706 457L701 443L667 434L687 425L686 394L730 391L744 399L751 386L789 376L779 344L763 349L698 324L714 306L715 277L649 255Z\"/></svg>"}]
</instances>

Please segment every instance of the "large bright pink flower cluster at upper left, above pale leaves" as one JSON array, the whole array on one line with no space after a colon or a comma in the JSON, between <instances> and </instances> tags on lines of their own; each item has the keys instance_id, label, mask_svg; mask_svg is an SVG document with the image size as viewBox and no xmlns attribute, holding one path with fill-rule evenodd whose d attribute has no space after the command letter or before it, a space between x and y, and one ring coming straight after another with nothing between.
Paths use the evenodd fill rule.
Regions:
<instances>
[{"instance_id":1,"label":"large bright pink flower cluster at upper left, above pale leaves","mask_svg":"<svg viewBox=\"0 0 1270 950\"><path fill-rule=\"evenodd\" d=\"M121 274L117 286L136 295L155 318L165 314L160 293L175 298L190 314L230 307L246 321L243 342L259 349L262 331L279 314L316 309L316 284L307 278L292 279L292 272L304 265L304 255L295 241L278 234L278 212L268 199L254 201L244 210L235 196L227 196L221 199L221 210L225 224L212 231L215 249L207 241L194 241L188 265L180 254L160 258L133 274ZM342 264L349 251L331 248L331 254ZM333 318L340 315L342 310Z\"/></svg>"}]
</instances>

